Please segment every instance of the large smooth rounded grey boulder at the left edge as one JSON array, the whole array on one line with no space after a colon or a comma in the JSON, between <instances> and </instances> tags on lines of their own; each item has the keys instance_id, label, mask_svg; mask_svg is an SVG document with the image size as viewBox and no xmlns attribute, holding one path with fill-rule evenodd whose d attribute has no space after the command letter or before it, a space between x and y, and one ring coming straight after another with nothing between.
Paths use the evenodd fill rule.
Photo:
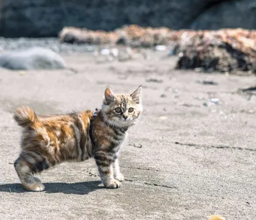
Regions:
<instances>
[{"instance_id":1,"label":"large smooth rounded grey boulder at the left edge","mask_svg":"<svg viewBox=\"0 0 256 220\"><path fill-rule=\"evenodd\" d=\"M11 70L54 70L67 68L65 61L59 54L40 47L5 52L0 55L0 66Z\"/></svg>"}]
</instances>

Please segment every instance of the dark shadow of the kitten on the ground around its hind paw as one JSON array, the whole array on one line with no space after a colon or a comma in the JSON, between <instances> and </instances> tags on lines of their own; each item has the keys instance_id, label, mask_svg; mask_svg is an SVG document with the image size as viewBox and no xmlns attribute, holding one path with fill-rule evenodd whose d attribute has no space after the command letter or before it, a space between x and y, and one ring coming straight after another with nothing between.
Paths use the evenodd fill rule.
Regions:
<instances>
[{"instance_id":1,"label":"dark shadow of the kitten on the ground around its hind paw","mask_svg":"<svg viewBox=\"0 0 256 220\"><path fill-rule=\"evenodd\" d=\"M44 183L45 193L65 193L65 194L88 194L97 189L103 189L103 186L99 186L100 181L88 181L88 182L47 182ZM0 185L0 192L8 193L26 193L28 192L22 184L3 184ZM40 193L40 192L39 192Z\"/></svg>"}]
</instances>

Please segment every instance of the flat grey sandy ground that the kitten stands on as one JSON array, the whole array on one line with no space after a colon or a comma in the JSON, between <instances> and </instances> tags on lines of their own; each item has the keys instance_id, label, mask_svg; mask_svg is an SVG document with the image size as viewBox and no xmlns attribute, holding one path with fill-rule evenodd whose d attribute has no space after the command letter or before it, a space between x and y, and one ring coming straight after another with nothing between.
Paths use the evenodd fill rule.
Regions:
<instances>
[{"instance_id":1,"label":"flat grey sandy ground that the kitten stands on","mask_svg":"<svg viewBox=\"0 0 256 220\"><path fill-rule=\"evenodd\" d=\"M126 62L65 55L73 71L1 69L0 219L255 219L256 96L239 89L256 78L177 71L175 58L163 54ZM94 110L107 85L118 93L140 84L144 112L122 147L120 189L102 187L92 159L42 173L44 192L23 189L13 168L17 106Z\"/></svg>"}]
</instances>

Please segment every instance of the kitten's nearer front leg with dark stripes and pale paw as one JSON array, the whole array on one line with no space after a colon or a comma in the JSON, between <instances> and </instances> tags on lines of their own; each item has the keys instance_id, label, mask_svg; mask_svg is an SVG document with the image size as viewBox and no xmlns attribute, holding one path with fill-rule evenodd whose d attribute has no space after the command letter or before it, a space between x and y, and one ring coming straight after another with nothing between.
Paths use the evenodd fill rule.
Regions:
<instances>
[{"instance_id":1,"label":"kitten's nearer front leg with dark stripes and pale paw","mask_svg":"<svg viewBox=\"0 0 256 220\"><path fill-rule=\"evenodd\" d=\"M121 186L119 180L114 178L113 159L107 154L95 154L94 159L98 166L100 179L106 188L115 189Z\"/></svg>"}]
</instances>

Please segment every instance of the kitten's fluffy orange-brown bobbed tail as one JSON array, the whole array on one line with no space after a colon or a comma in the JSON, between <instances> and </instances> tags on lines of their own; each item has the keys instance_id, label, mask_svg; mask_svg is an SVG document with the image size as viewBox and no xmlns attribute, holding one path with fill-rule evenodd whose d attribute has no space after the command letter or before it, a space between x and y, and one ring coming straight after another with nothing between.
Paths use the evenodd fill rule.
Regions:
<instances>
[{"instance_id":1,"label":"kitten's fluffy orange-brown bobbed tail","mask_svg":"<svg viewBox=\"0 0 256 220\"><path fill-rule=\"evenodd\" d=\"M19 126L28 127L34 124L36 115L32 108L29 108L28 106L21 106L15 111L13 119L19 124Z\"/></svg>"}]
</instances>

